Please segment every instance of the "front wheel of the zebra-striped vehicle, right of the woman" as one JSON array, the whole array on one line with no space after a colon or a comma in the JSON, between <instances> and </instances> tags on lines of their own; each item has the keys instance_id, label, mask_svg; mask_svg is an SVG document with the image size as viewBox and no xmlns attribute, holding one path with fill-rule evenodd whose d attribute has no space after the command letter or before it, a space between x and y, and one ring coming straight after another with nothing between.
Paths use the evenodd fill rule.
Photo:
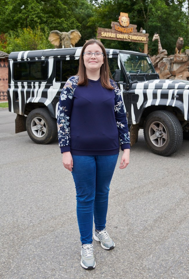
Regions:
<instances>
[{"instance_id":1,"label":"front wheel of the zebra-striped vehicle, right of the woman","mask_svg":"<svg viewBox=\"0 0 189 279\"><path fill-rule=\"evenodd\" d=\"M172 112L158 110L147 116L144 137L153 153L169 156L181 146L183 132L179 120Z\"/></svg>"}]
</instances>

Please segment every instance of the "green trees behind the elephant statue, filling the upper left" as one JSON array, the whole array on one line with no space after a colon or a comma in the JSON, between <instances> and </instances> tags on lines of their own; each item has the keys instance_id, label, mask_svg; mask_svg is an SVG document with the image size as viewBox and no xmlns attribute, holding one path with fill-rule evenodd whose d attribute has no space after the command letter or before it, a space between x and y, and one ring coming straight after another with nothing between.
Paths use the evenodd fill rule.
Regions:
<instances>
[{"instance_id":1,"label":"green trees behind the elephant statue, filling the upper left","mask_svg":"<svg viewBox=\"0 0 189 279\"><path fill-rule=\"evenodd\" d=\"M47 44L49 32L52 30L68 32L78 29L82 37L76 46L82 46L85 40L96 35L95 27L87 26L92 14L93 5L87 0L2 0L0 30L8 34L9 51L18 49L19 46L25 49L30 45L39 45L38 42L34 43L33 37L26 36L28 28L29 33L31 30L36 33L36 28L39 27ZM19 36L23 37L22 33L32 42L20 43L22 39L19 39ZM53 45L50 44L50 47L53 48Z\"/></svg>"}]
</instances>

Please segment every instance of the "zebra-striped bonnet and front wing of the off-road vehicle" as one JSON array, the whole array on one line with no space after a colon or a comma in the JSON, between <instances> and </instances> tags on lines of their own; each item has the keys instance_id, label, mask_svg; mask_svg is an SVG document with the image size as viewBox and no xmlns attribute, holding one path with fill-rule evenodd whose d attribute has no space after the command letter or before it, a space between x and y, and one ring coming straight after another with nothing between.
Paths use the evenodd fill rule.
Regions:
<instances>
[{"instance_id":1,"label":"zebra-striped bonnet and front wing of the off-road vehicle","mask_svg":"<svg viewBox=\"0 0 189 279\"><path fill-rule=\"evenodd\" d=\"M145 108L158 105L179 108L184 119L189 121L189 81L159 79L134 83L130 93L138 95L137 103L131 106L132 124L139 123L141 111Z\"/></svg>"}]
</instances>

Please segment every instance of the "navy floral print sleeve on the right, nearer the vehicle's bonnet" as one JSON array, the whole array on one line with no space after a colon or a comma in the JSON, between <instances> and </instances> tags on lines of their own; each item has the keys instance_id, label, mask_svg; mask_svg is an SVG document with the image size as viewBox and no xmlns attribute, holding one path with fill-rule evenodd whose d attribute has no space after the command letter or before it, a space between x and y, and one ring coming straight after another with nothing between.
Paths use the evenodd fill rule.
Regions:
<instances>
[{"instance_id":1,"label":"navy floral print sleeve on the right, nearer the vehicle's bonnet","mask_svg":"<svg viewBox=\"0 0 189 279\"><path fill-rule=\"evenodd\" d=\"M121 146L121 150L129 149L130 138L128 132L128 125L127 125L127 116L123 105L123 100L121 98L121 93L119 91L117 84L113 80L110 80L110 83L114 87L114 92L115 92L114 113L116 118L116 124L118 127L119 143Z\"/></svg>"}]
</instances>

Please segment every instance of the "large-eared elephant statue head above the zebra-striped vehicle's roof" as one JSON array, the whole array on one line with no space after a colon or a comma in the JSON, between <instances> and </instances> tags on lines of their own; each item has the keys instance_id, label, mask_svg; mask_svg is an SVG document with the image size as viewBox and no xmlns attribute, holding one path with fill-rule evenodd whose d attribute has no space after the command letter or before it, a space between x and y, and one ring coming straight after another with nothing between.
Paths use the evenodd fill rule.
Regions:
<instances>
[{"instance_id":1,"label":"large-eared elephant statue head above the zebra-striped vehicle's roof","mask_svg":"<svg viewBox=\"0 0 189 279\"><path fill-rule=\"evenodd\" d=\"M53 30L50 32L48 40L55 45L57 49L75 47L79 41L81 34L78 30L71 30L69 32L60 32Z\"/></svg>"}]
</instances>

